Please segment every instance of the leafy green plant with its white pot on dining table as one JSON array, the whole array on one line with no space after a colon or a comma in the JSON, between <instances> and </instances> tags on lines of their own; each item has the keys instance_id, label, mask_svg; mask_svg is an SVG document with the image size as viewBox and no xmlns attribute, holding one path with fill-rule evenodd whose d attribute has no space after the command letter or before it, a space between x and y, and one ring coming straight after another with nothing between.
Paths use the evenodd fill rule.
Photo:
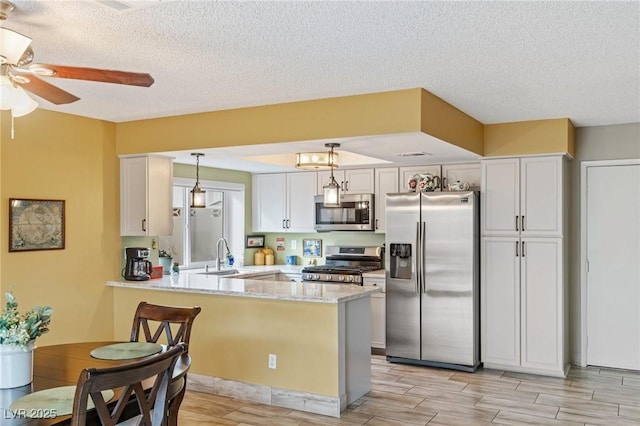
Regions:
<instances>
[{"instance_id":1,"label":"leafy green plant with its white pot on dining table","mask_svg":"<svg viewBox=\"0 0 640 426\"><path fill-rule=\"evenodd\" d=\"M49 331L50 306L34 306L24 314L12 293L0 315L0 389L24 386L33 380L35 340Z\"/></svg>"}]
</instances>

